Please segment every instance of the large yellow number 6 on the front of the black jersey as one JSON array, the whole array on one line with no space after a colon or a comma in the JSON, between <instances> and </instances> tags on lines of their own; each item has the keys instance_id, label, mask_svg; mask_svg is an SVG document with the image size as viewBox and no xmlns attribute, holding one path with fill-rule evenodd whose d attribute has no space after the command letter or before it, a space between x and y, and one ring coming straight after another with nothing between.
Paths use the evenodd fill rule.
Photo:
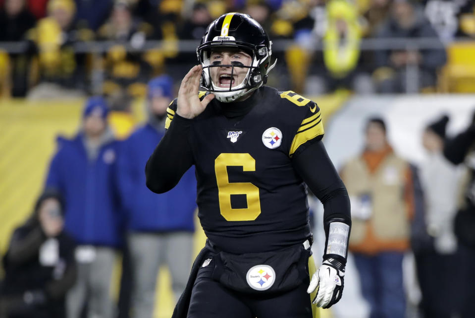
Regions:
<instances>
[{"instance_id":1,"label":"large yellow number 6 on the front of the black jersey","mask_svg":"<svg viewBox=\"0 0 475 318\"><path fill-rule=\"evenodd\" d=\"M218 186L219 209L227 221L253 221L261 214L259 188L250 182L229 182L227 167L242 167L243 171L256 171L256 160L248 153L221 153L214 160ZM246 194L247 208L233 209L231 194Z\"/></svg>"}]
</instances>

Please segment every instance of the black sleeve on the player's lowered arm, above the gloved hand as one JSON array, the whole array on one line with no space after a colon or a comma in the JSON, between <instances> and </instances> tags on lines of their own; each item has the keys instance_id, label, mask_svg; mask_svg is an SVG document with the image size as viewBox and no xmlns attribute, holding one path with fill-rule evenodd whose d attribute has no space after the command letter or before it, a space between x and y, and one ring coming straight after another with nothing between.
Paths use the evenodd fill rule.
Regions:
<instances>
[{"instance_id":1,"label":"black sleeve on the player's lowered arm, above the gloved hand","mask_svg":"<svg viewBox=\"0 0 475 318\"><path fill-rule=\"evenodd\" d=\"M323 142L317 141L293 157L293 166L310 190L323 204L323 227L325 230L325 252L328 244L328 232L331 222L342 222L350 226L350 198L345 185L336 172L326 153ZM350 235L348 235L348 238ZM348 248L348 242L346 244ZM341 259L346 263L346 259ZM327 255L323 255L326 258Z\"/></svg>"}]
</instances>

